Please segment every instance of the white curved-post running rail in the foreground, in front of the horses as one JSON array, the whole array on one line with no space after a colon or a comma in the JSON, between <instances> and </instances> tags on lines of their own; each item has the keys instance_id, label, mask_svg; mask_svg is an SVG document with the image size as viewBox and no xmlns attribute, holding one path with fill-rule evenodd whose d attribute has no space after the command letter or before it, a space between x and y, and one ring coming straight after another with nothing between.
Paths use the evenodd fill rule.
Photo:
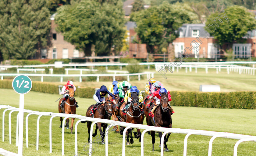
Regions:
<instances>
[{"instance_id":1,"label":"white curved-post running rail in the foreground, in front of the horses","mask_svg":"<svg viewBox=\"0 0 256 156\"><path fill-rule=\"evenodd\" d=\"M6 105L0 105L0 109L5 108L4 113L3 113L3 141L4 141L4 116L5 116L5 112L7 110L11 110L11 112L15 111L19 111L18 108L16 107L11 107L11 106L6 106ZM11 112L9 113L9 125L11 124ZM24 111L25 112L25 111ZM97 118L91 118L91 117L85 117L85 116L81 116L81 115L77 115L77 114L60 114L60 113L52 113L52 112L37 112L37 111L32 111L32 110L26 110L27 113L27 117L26 117L26 144L27 144L27 148L28 148L28 117L32 114L35 115L39 115L37 118L37 143L36 143L36 148L37 150L39 149L39 121L40 121L40 117L41 116L52 116L50 118L50 127L49 127L49 146L50 146L50 153L52 153L52 119L54 117L65 117L64 120L62 121L64 125L65 124L65 120L69 117L72 118L77 118L80 119L76 122L75 124L75 154L78 155L78 148L77 148L77 125L81 122L81 121L91 121L93 122L91 125L91 133L90 133L90 140L92 140L92 134L93 134L93 126L96 123L106 123L106 124L111 124L112 126L116 126L116 125L120 125L120 126L124 126L126 127L125 130L123 131L123 143L122 143L122 155L125 155L125 143L126 143L126 131L128 128L139 128L139 129L144 129L144 131L141 134L141 156L144 155L144 134L147 131L161 131L164 132L161 138L161 156L163 156L163 152L164 152L164 146L163 146L163 140L164 140L164 136L167 133L178 133L178 134L187 134L185 139L184 139L184 148L183 148L183 156L187 155L187 139L190 135L192 134L197 134L197 135L204 135L204 136L212 136L212 138L209 141L209 148L208 148L208 156L212 155L212 143L214 141L215 138L217 137L223 137L223 138L229 138L229 139L238 139L239 141L236 142L235 146L234 146L234 156L237 156L237 148L238 145L241 142L244 141L254 141L256 142L256 136L250 136L250 135L242 135L242 134L233 134L233 133L226 133L226 132L214 132L214 131L203 131L203 130L191 130L191 129L180 129L180 128L163 128L163 127L154 127L154 126L147 126L147 125L141 125L141 124L130 124L130 123L124 123L124 122L119 122L119 121L113 121L113 120L107 120L107 119L97 119ZM17 115L17 128L16 128L16 133L18 134L18 117L19 114ZM110 128L110 125L107 127L106 129L106 133L108 133L108 129ZM62 155L64 155L64 130L65 127L62 127ZM9 137L10 137L10 144L11 144L11 129L9 127ZM70 131L70 130L69 130ZM16 135L16 143L18 140L18 135ZM90 155L92 154L92 141L90 141ZM16 146L18 146L16 144ZM108 135L105 136L105 155L108 156Z\"/></svg>"}]
</instances>

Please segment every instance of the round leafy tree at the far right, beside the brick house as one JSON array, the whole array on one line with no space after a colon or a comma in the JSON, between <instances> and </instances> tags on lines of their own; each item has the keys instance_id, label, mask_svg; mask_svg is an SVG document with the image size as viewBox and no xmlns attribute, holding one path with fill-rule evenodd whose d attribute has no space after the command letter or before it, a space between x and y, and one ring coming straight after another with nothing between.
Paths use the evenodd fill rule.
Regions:
<instances>
[{"instance_id":1,"label":"round leafy tree at the far right, beside the brick house","mask_svg":"<svg viewBox=\"0 0 256 156\"><path fill-rule=\"evenodd\" d=\"M224 16L224 12L228 18L228 20L222 18L219 15ZM248 31L254 30L256 28L256 21L254 19L252 13L248 12L246 8L242 6L232 6L226 8L222 13L216 12L210 15L206 22L206 27L209 24L213 24L210 20L219 17L222 20L222 23L219 20L216 20L219 27L215 26L215 31L210 32L208 29L205 29L210 33L210 35L214 36L216 39L216 43L220 46L221 50L226 54L224 47L226 46L227 49L232 49L233 43L243 43L246 40L243 39ZM213 27L209 28L213 30ZM224 46L225 45L225 46Z\"/></svg>"}]
</instances>

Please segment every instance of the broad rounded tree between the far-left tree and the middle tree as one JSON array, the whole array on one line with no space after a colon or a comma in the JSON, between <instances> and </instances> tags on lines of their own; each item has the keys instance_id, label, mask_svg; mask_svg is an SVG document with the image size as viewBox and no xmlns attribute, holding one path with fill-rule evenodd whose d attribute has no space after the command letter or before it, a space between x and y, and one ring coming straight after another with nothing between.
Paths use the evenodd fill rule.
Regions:
<instances>
[{"instance_id":1,"label":"broad rounded tree between the far-left tree and the middle tree","mask_svg":"<svg viewBox=\"0 0 256 156\"><path fill-rule=\"evenodd\" d=\"M57 13L57 30L86 56L91 56L94 46L95 53L100 55L122 48L125 21L120 0L81 0L61 6Z\"/></svg>"}]
</instances>

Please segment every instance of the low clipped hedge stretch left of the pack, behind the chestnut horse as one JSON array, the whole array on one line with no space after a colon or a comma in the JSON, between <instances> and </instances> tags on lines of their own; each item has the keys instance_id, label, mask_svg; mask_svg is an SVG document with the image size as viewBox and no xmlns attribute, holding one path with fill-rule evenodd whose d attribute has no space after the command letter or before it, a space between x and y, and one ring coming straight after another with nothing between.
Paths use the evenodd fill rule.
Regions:
<instances>
[{"instance_id":1,"label":"low clipped hedge stretch left of the pack, behind the chestnut horse","mask_svg":"<svg viewBox=\"0 0 256 156\"><path fill-rule=\"evenodd\" d=\"M0 88L12 89L12 80L0 80ZM33 82L31 91L59 94L59 86L50 83ZM91 87L76 88L76 96L83 98L92 98L95 89Z\"/></svg>"}]
</instances>

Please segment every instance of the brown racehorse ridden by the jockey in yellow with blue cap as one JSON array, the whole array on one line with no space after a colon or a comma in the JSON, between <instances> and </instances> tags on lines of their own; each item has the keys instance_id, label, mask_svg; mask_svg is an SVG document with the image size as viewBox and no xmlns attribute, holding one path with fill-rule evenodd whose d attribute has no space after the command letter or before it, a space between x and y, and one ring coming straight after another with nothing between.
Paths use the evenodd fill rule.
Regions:
<instances>
[{"instance_id":1,"label":"brown racehorse ridden by the jockey in yellow with blue cap","mask_svg":"<svg viewBox=\"0 0 256 156\"><path fill-rule=\"evenodd\" d=\"M132 123L132 124L143 124L143 120L144 120L144 112L141 111L141 103L139 102L139 96L138 93L132 93L131 92L131 103L130 106L126 109L126 116L122 113L120 114L122 119L125 120L125 122L127 123ZM122 106L120 107L120 109L122 109L123 107L125 107L125 103L122 104ZM126 106L127 107L127 106ZM120 131L123 130L120 127ZM134 137L139 139L141 139L141 133L140 133L140 129L137 129L137 133L133 132ZM129 128L126 131L126 145L130 145L133 144L133 135L132 135L132 128ZM129 137L130 137L130 141L129 141ZM130 143L129 143L130 142Z\"/></svg>"}]
</instances>

